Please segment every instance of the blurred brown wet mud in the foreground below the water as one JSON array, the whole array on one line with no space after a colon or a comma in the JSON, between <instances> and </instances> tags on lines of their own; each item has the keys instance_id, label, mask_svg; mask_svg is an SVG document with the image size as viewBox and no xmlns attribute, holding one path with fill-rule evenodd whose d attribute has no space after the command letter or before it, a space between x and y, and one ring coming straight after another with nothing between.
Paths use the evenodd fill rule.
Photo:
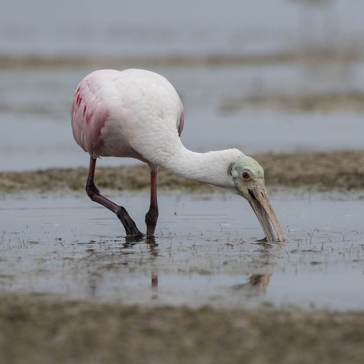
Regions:
<instances>
[{"instance_id":1,"label":"blurred brown wet mud in the foreground below the water","mask_svg":"<svg viewBox=\"0 0 364 364\"><path fill-rule=\"evenodd\" d=\"M1 363L362 363L364 315L0 298Z\"/></svg>"}]
</instances>

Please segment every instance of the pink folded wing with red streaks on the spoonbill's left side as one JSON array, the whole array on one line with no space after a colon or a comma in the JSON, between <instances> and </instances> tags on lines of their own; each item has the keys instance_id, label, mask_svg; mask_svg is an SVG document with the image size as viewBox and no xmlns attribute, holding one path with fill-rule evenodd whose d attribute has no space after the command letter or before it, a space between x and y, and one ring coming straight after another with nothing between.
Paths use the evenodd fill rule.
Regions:
<instances>
[{"instance_id":1,"label":"pink folded wing with red streaks on the spoonbill's left side","mask_svg":"<svg viewBox=\"0 0 364 364\"><path fill-rule=\"evenodd\" d=\"M89 75L90 76L90 75ZM92 157L102 143L101 128L109 117L109 110L105 102L98 98L96 91L84 78L76 88L71 106L71 123L73 137L83 150Z\"/></svg>"}]
</instances>

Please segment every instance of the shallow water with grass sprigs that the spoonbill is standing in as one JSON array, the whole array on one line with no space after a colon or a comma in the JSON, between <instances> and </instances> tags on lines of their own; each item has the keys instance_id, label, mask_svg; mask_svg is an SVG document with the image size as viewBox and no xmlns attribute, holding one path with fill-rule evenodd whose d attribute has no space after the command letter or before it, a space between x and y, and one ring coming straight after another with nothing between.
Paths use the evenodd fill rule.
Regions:
<instances>
[{"instance_id":1,"label":"shallow water with grass sprigs that the spoonbill is standing in","mask_svg":"<svg viewBox=\"0 0 364 364\"><path fill-rule=\"evenodd\" d=\"M147 194L111 194L140 229ZM364 200L273 195L289 243L264 244L248 203L162 194L155 241L126 241L83 195L1 201L0 292L147 305L364 308Z\"/></svg>"}]
</instances>

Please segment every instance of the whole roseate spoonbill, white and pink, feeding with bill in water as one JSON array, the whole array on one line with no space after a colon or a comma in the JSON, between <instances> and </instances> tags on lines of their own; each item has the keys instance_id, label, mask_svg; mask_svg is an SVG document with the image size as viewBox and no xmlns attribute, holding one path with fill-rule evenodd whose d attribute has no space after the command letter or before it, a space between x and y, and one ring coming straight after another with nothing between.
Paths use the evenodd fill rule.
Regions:
<instances>
[{"instance_id":1,"label":"whole roseate spoonbill, white and pink, feeding with bill in water","mask_svg":"<svg viewBox=\"0 0 364 364\"><path fill-rule=\"evenodd\" d=\"M262 167L238 149L195 153L179 136L183 106L174 87L161 75L145 70L99 70L77 86L71 107L75 141L90 154L87 195L114 212L127 235L142 235L126 209L102 196L94 184L96 158L131 157L150 168L150 207L145 215L147 235L158 218L159 166L191 181L210 183L248 200L268 241L274 232L287 240L270 205ZM269 221L270 220L270 221Z\"/></svg>"}]
</instances>

